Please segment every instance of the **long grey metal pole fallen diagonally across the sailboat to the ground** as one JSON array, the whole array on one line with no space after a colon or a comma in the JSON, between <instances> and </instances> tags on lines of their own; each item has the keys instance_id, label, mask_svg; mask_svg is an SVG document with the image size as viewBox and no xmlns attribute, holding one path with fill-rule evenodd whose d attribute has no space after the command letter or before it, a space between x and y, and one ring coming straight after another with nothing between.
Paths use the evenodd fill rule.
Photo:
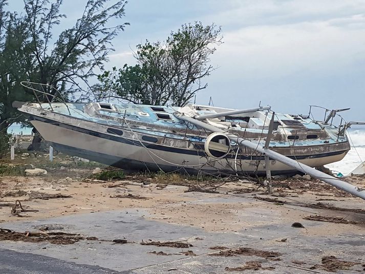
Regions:
<instances>
[{"instance_id":1,"label":"long grey metal pole fallen diagonally across the sailboat to the ground","mask_svg":"<svg viewBox=\"0 0 365 274\"><path fill-rule=\"evenodd\" d=\"M187 121L187 122L190 122L192 124L196 124L198 125L199 127L201 128L204 128L205 130L207 131L211 131L211 132L222 132L224 133L223 130L219 129L219 128L216 128L214 127L213 125L210 125L210 124L207 124L207 123L204 123L202 121L197 121L196 119L194 118L191 118L191 117L187 117L187 116L184 116L184 115L179 115L179 114L174 114L177 118L181 119L181 120L184 120L184 121ZM297 171L300 171L300 172L304 172L306 174L309 174L311 175L312 177L315 177L321 181L324 181L326 183L329 183L337 188L340 188L342 189L343 191L346 191L354 196L357 196L357 197L360 197L362 199L365 200L365 189L362 189L360 187L357 187L355 185L352 185L348 182L345 182L345 181L342 181L338 178L335 178L333 176L330 176L326 173L323 173L321 171L318 171L316 170L315 168L313 167L310 167L306 164L303 164L303 163L299 163L298 161L296 160L293 160L293 159L290 159L280 153L277 153L277 152L274 152L270 149L265 149L264 147L262 146L258 146L257 143L253 143L249 140L246 140L246 139L243 139L241 137L237 137L237 136L234 136L234 135L227 135L229 139L241 144L241 145L244 145L246 147L249 147L250 149L253 149L255 151L259 151L261 152L262 154L265 154L266 156L269 156L270 158L276 160L276 161L279 161L279 162L282 162L286 165L289 165L293 168L295 168Z\"/></svg>"}]
</instances>

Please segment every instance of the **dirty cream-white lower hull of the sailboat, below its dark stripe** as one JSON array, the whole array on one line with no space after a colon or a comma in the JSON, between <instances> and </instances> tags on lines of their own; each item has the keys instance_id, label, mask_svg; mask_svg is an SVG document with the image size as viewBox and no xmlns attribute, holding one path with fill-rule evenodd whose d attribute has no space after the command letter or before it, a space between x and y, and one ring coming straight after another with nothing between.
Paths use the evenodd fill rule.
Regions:
<instances>
[{"instance_id":1,"label":"dirty cream-white lower hull of the sailboat, below its dark stripe","mask_svg":"<svg viewBox=\"0 0 365 274\"><path fill-rule=\"evenodd\" d=\"M51 142L56 149L82 158L121 167L125 170L147 167L151 171L161 168L164 171L187 171L188 173L211 174L219 171L221 174L234 174L236 173L235 166L237 166L239 174L266 172L265 161L262 160L210 159L199 156L198 153L197 155L181 154L160 149L147 149L137 135L135 135L134 141L140 145L93 136L49 122L38 120L31 122L42 137ZM323 157L308 157L298 161L315 167L339 161L345 157L346 153L347 151L343 151L329 156L326 156L328 154L325 153ZM293 172L293 168L272 160L271 171L273 174L290 173Z\"/></svg>"}]
</instances>

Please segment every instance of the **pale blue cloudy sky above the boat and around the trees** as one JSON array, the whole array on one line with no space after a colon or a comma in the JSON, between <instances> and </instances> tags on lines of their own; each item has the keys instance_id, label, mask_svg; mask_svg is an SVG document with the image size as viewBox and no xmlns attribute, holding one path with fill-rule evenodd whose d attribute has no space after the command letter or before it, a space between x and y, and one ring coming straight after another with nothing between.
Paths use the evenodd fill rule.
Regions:
<instances>
[{"instance_id":1,"label":"pale blue cloudy sky above the boat and around the trees","mask_svg":"<svg viewBox=\"0 0 365 274\"><path fill-rule=\"evenodd\" d=\"M22 0L10 0L23 7ZM110 3L116 2L111 0ZM86 0L63 0L71 27ZM307 114L309 105L351 108L348 121L365 121L364 0L130 0L106 69L135 64L132 50L145 39L164 40L182 24L222 27L224 44L197 103ZM71 25L70 25L71 24Z\"/></svg>"}]
</instances>

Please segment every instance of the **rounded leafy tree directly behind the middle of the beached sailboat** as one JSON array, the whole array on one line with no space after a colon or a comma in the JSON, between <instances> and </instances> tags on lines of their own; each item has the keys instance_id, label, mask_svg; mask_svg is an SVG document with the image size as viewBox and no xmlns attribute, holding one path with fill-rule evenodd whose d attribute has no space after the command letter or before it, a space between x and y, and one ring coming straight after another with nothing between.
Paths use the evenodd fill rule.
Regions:
<instances>
[{"instance_id":1,"label":"rounded leafy tree directly behind the middle of the beached sailboat","mask_svg":"<svg viewBox=\"0 0 365 274\"><path fill-rule=\"evenodd\" d=\"M222 43L221 28L201 22L185 24L164 42L137 45L137 65L105 71L94 86L99 99L120 98L133 103L184 106L207 87L202 79L214 70L209 65L215 46Z\"/></svg>"}]
</instances>

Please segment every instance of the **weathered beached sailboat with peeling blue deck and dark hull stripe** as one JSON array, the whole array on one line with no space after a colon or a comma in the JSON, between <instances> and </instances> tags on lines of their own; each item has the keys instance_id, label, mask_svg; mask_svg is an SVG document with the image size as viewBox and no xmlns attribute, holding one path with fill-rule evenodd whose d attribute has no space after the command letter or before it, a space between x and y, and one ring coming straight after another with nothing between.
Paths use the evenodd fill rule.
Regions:
<instances>
[{"instance_id":1,"label":"weathered beached sailboat with peeling blue deck and dark hull stripe","mask_svg":"<svg viewBox=\"0 0 365 274\"><path fill-rule=\"evenodd\" d=\"M37 96L44 93L33 90ZM346 129L334 127L329 119L273 115L269 106L232 110L197 104L166 107L38 100L18 107L56 150L125 170L265 174L265 156L254 147L266 146L311 167L339 161L350 150ZM220 132L212 134L195 121ZM229 136L249 140L253 148ZM275 159L270 159L270 169L272 174L296 171Z\"/></svg>"}]
</instances>

